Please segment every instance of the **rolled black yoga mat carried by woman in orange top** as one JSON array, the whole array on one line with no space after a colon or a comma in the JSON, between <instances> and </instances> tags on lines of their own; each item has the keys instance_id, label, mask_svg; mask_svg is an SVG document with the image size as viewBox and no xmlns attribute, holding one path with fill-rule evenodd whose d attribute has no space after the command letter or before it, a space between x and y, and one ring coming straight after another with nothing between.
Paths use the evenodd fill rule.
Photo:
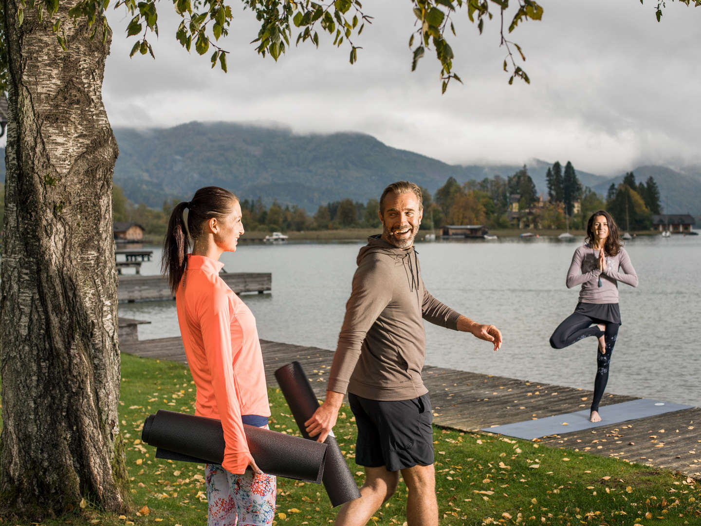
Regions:
<instances>
[{"instance_id":1,"label":"rolled black yoga mat carried by woman in orange top","mask_svg":"<svg viewBox=\"0 0 701 526\"><path fill-rule=\"evenodd\" d=\"M326 444L311 445L299 436L247 424L243 424L243 431L253 459L264 473L322 482ZM217 419L158 410L144 422L141 439L157 448L159 459L198 464L222 464L224 460L224 430Z\"/></svg>"}]
</instances>

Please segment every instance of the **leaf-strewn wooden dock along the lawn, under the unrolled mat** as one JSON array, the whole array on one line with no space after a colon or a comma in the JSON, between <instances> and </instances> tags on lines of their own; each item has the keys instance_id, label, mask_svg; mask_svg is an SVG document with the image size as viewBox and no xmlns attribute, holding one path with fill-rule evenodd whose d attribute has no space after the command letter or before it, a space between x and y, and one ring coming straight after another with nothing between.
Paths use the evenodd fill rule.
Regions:
<instances>
[{"instance_id":1,"label":"leaf-strewn wooden dock along the lawn, under the unrolled mat","mask_svg":"<svg viewBox=\"0 0 701 526\"><path fill-rule=\"evenodd\" d=\"M326 396L327 372L334 353L327 349L261 340L268 386L277 387L278 367L299 361L314 392ZM179 337L121 344L121 351L147 358L186 363ZM482 432L490 426L580 411L590 406L592 391L481 375L444 367L423 367L430 391L433 423L461 431ZM635 400L605 393L601 407ZM695 421L695 422L694 422ZM680 471L701 480L701 408L629 420L611 426L547 436L536 441L552 447L615 457Z\"/></svg>"}]
</instances>

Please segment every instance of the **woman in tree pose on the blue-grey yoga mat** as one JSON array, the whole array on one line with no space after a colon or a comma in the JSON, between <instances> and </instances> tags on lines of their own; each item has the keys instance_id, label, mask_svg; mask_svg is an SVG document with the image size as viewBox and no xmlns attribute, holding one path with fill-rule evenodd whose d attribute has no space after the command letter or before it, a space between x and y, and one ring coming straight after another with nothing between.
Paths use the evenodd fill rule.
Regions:
<instances>
[{"instance_id":1,"label":"woman in tree pose on the blue-grey yoga mat","mask_svg":"<svg viewBox=\"0 0 701 526\"><path fill-rule=\"evenodd\" d=\"M575 250L567 271L567 288L582 285L579 303L550 337L553 349L562 349L587 336L599 340L591 422L601 421L599 402L608 382L608 366L621 324L618 281L638 286L638 276L618 239L618 227L613 217L605 210L599 210L589 218L585 243Z\"/></svg>"}]
</instances>

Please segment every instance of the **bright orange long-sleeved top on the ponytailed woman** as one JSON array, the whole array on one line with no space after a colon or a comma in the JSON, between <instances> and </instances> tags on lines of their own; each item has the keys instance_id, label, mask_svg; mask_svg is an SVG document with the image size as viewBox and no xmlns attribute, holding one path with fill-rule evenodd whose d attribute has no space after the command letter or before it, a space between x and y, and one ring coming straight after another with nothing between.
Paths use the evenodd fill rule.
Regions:
<instances>
[{"instance_id":1,"label":"bright orange long-sleeved top on the ponytailed woman","mask_svg":"<svg viewBox=\"0 0 701 526\"><path fill-rule=\"evenodd\" d=\"M270 416L256 320L219 271L224 263L188 255L175 295L182 343L197 388L196 414L224 428L229 473L243 473L251 454L242 414Z\"/></svg>"}]
</instances>

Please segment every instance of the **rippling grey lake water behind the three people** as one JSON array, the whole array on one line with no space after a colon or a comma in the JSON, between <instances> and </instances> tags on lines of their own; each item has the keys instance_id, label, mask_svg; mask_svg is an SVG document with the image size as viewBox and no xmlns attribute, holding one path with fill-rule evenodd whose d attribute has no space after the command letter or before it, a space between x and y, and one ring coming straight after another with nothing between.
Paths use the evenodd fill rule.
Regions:
<instances>
[{"instance_id":1,"label":"rippling grey lake water behind the three people","mask_svg":"<svg viewBox=\"0 0 701 526\"><path fill-rule=\"evenodd\" d=\"M271 272L273 291L242 295L261 339L335 349L365 242L239 245L222 255L228 272ZM417 243L426 288L442 302L503 333L501 351L462 332L426 324L426 363L593 389L597 341L554 350L552 330L573 311L578 288L565 274L578 243L528 241ZM142 274L158 274L155 261ZM623 325L607 391L701 406L701 236L645 236L626 249L637 288L620 284ZM175 302L120 304L120 315L148 320L142 339L179 335Z\"/></svg>"}]
</instances>

